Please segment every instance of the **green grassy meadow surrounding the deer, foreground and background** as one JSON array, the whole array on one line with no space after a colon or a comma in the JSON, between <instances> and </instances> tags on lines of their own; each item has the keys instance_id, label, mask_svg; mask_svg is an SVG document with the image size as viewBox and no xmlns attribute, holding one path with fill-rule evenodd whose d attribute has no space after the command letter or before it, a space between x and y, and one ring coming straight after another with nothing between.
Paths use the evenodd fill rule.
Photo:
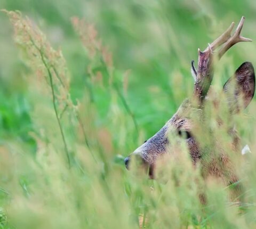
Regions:
<instances>
[{"instance_id":1,"label":"green grassy meadow surrounding the deer, foreground and background","mask_svg":"<svg viewBox=\"0 0 256 229\"><path fill-rule=\"evenodd\" d=\"M162 179L124 166L193 93L197 48L242 15L253 42L223 56L213 87L242 62L255 66L255 1L0 7L0 228L256 228L255 98L234 118L251 149L238 168L244 202L209 181L202 205L186 152Z\"/></svg>"}]
</instances>

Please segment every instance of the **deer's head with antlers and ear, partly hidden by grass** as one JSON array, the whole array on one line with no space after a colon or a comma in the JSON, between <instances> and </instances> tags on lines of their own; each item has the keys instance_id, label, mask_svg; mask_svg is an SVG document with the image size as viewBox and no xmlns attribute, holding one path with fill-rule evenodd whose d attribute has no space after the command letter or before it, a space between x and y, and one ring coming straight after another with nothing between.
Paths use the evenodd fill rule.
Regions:
<instances>
[{"instance_id":1,"label":"deer's head with antlers and ear, partly hidden by grass","mask_svg":"<svg viewBox=\"0 0 256 229\"><path fill-rule=\"evenodd\" d=\"M209 88L213 78L213 65L215 60L220 60L230 47L238 42L251 42L249 38L241 36L241 30L244 23L244 17L239 22L234 34L231 31L235 23L232 22L230 27L223 32L214 42L209 44L203 52L198 49L198 68L191 62L191 72L195 79L194 93L190 99L186 99L179 107L173 117L166 122L153 137L150 137L145 143L137 148L129 157L125 159L125 166L129 168L129 163L133 156L135 160L141 160L149 168L149 175L154 178L154 168L156 161L164 154L171 153L172 137L185 141L187 148L194 164L200 161L204 167L204 175L214 175L225 177L226 182L236 182L237 178L229 163L229 157L225 154L225 150L214 147L206 147L197 138L196 129L207 128L205 120L205 101L206 95L209 94ZM246 108L252 100L255 89L254 69L250 62L244 62L230 77L223 87L223 94L226 94L228 104L228 113L230 116ZM215 104L218 107L218 102ZM196 118L195 118L196 117ZM218 117L218 125L222 125L221 117ZM208 133L211 133L209 130ZM232 149L238 150L239 137L235 129L232 127L227 129L230 135ZM215 144L215 140L212 141ZM218 149L218 156L213 151ZM214 154L214 156L213 156ZM207 155L207 157L206 157ZM205 159L207 158L207 160ZM210 158L210 159L209 159ZM228 170L228 172L227 172Z\"/></svg>"}]
</instances>

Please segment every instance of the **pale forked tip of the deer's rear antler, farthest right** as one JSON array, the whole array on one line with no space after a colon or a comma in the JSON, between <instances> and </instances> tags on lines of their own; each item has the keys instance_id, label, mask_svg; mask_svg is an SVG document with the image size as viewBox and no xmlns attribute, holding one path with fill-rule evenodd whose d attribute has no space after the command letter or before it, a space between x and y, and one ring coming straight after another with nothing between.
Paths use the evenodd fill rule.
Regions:
<instances>
[{"instance_id":1,"label":"pale forked tip of the deer's rear antler, farthest right","mask_svg":"<svg viewBox=\"0 0 256 229\"><path fill-rule=\"evenodd\" d=\"M234 33L233 36L231 36L226 43L223 44L223 46L221 47L220 51L219 51L219 59L223 56L223 54L225 54L230 47L232 47L233 45L235 45L236 43L239 42L252 42L252 39L249 38L245 38L241 36L241 31L243 28L243 24L244 24L244 16L241 18L236 31Z\"/></svg>"}]
</instances>

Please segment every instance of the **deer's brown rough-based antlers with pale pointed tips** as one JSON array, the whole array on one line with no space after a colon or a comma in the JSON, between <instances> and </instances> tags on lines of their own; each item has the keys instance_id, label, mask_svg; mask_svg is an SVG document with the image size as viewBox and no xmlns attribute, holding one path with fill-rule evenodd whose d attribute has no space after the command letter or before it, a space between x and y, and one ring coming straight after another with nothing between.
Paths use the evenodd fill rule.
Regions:
<instances>
[{"instance_id":1,"label":"deer's brown rough-based antlers with pale pointed tips","mask_svg":"<svg viewBox=\"0 0 256 229\"><path fill-rule=\"evenodd\" d=\"M235 45L238 42L251 42L249 38L242 37L241 30L244 24L244 17L241 18L235 33L231 36L231 31L233 30L235 23L232 22L229 28L223 32L217 39L214 40L211 44L208 44L208 47L201 52L198 48L198 69L196 71L194 66L194 61L191 62L191 72L195 78L195 87L194 94L199 99L199 102L202 103L209 87L212 83L213 69L212 69L212 60L213 55L217 54L218 59L220 59L223 54L225 54L230 47ZM215 53L214 51L220 47L220 50Z\"/></svg>"}]
</instances>

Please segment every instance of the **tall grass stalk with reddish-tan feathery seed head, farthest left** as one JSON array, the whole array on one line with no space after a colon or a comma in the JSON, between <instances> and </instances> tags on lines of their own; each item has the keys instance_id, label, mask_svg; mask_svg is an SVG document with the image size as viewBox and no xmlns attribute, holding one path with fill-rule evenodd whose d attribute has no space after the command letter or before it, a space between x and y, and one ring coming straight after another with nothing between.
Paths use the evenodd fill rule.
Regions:
<instances>
[{"instance_id":1,"label":"tall grass stalk with reddish-tan feathery seed head, farthest left","mask_svg":"<svg viewBox=\"0 0 256 229\"><path fill-rule=\"evenodd\" d=\"M61 117L67 108L76 110L69 94L69 74L66 61L61 50L54 50L45 35L27 17L23 18L18 11L4 11L10 18L14 28L15 42L25 51L29 66L37 73L37 77L44 77L49 85L55 116L60 128L68 165L70 155L67 141L61 124Z\"/></svg>"}]
</instances>

